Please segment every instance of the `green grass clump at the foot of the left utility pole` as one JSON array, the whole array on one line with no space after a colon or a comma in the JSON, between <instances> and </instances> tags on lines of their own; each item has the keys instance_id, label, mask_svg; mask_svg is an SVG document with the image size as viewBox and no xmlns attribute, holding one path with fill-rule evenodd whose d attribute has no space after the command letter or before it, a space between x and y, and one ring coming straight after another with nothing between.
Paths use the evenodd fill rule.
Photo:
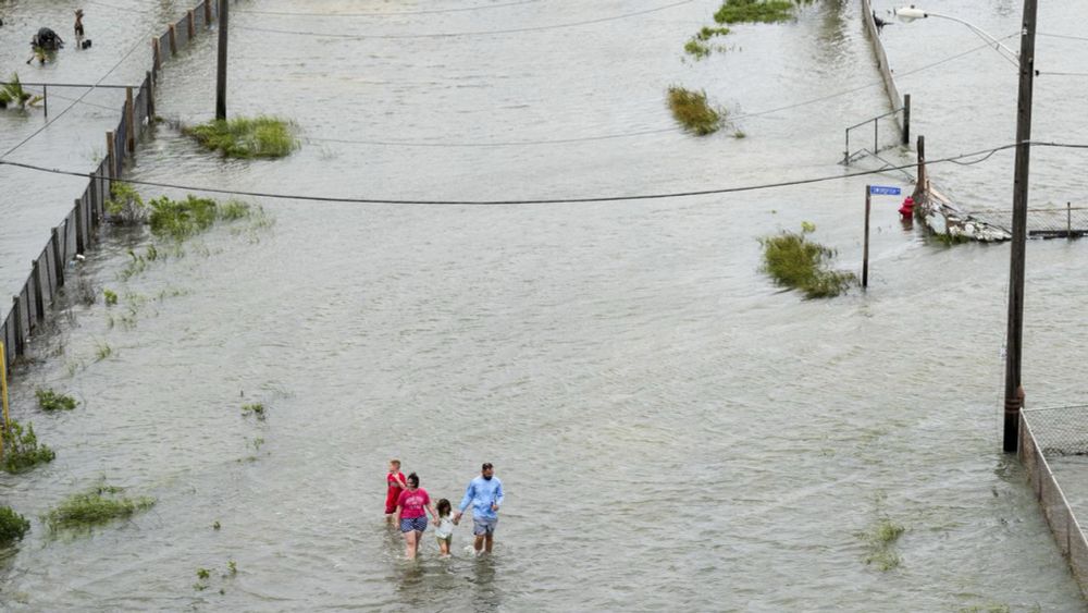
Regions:
<instances>
[{"instance_id":1,"label":"green grass clump at the foot of the left utility pole","mask_svg":"<svg viewBox=\"0 0 1088 613\"><path fill-rule=\"evenodd\" d=\"M183 132L227 158L282 158L298 148L292 123L267 115L214 120Z\"/></svg>"}]
</instances>

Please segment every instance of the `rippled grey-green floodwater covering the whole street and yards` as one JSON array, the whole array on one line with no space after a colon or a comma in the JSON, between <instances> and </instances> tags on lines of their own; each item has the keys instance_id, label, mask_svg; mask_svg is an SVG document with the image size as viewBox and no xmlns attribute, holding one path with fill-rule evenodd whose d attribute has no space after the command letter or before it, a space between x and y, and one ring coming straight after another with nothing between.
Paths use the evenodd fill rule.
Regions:
<instances>
[{"instance_id":1,"label":"rippled grey-green floodwater covering the whole street and yards","mask_svg":"<svg viewBox=\"0 0 1088 613\"><path fill-rule=\"evenodd\" d=\"M8 15L45 4L3 7L4 65L24 50ZM88 4L92 53L27 74L97 78L181 14L172 2L111 4L129 11ZM728 52L697 63L681 48L712 23L714 1L601 21L668 4L240 2L230 112L294 119L301 149L222 161L163 124L132 175L492 200L846 172L842 130L888 108L854 3L738 26ZM1016 29L1011 2L968 4ZM63 23L75 5L49 10ZM479 10L428 12L468 7ZM1051 24L1085 16L1074 2L1047 10ZM911 27L926 53L977 46L969 32ZM431 36L496 30L519 32ZM1071 49L1083 63L1086 47ZM214 52L207 36L168 65L159 114L211 117ZM1000 96L985 106L970 87L1004 71L978 52L914 77L928 86L913 93L930 158L1011 142L1014 79L988 85ZM673 83L704 88L746 137L676 130L664 106ZM1037 95L1043 114L1072 123L1070 100ZM116 115L82 107L11 159L89 170ZM0 113L0 145L39 120ZM1073 175L1042 177L1080 155L1035 157L1033 194L1074 198ZM997 205L1011 199L1011 159L934 172ZM273 225L217 226L127 281L127 250L152 240L112 237L82 274L122 304L73 307L37 341L48 357L13 381L13 416L33 420L57 459L0 477L0 491L34 518L103 477L158 503L90 535L35 519L0 563L0 599L27 611L1084 610L1023 470L1000 451L1007 246L927 241L900 224L897 199L878 198L868 292L804 301L758 270L758 237L802 221L840 266L860 268L865 184L903 179L532 206L250 198ZM12 293L83 185L10 168L0 180ZM1086 262L1083 244L1029 245L1024 381L1036 406L1086 393ZM42 414L37 388L83 404ZM250 402L265 420L242 415ZM393 456L455 503L480 463L495 463L507 501L494 555L472 559L462 524L452 560L428 536L422 560L406 562L381 515ZM866 564L865 535L882 519L905 528L887 572ZM198 581L198 568L211 577Z\"/></svg>"}]
</instances>

